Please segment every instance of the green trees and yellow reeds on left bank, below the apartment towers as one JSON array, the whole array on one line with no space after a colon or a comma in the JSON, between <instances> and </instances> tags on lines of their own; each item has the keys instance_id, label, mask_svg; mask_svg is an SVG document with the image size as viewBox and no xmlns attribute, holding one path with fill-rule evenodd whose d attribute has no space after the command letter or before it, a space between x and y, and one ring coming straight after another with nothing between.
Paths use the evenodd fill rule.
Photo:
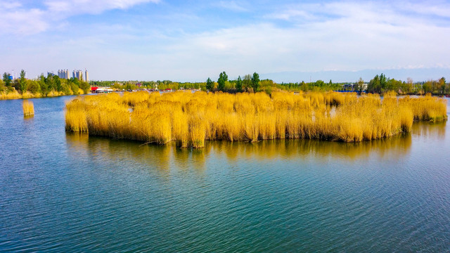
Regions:
<instances>
[{"instance_id":1,"label":"green trees and yellow reeds on left bank, below the apartment towers","mask_svg":"<svg viewBox=\"0 0 450 253\"><path fill-rule=\"evenodd\" d=\"M9 73L4 73L0 79L0 99L42 98L65 95L81 95L89 92L87 82L77 78L60 79L56 75L41 74L37 79L26 79L25 71L20 72L20 78L11 79Z\"/></svg>"}]
</instances>

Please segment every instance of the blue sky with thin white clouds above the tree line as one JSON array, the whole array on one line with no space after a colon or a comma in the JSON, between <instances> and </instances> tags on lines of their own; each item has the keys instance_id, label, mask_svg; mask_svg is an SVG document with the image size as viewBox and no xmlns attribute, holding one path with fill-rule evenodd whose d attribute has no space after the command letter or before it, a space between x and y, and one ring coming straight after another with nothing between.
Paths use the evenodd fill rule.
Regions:
<instances>
[{"instance_id":1,"label":"blue sky with thin white clouds above the tree line","mask_svg":"<svg viewBox=\"0 0 450 253\"><path fill-rule=\"evenodd\" d=\"M447 1L0 0L0 72L91 80L450 79Z\"/></svg>"}]
</instances>

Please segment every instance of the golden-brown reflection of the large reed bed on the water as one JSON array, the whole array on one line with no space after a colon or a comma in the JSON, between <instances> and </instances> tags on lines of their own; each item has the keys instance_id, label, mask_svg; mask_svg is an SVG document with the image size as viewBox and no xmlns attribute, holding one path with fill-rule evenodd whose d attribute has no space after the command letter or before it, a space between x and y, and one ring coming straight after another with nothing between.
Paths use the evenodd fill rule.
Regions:
<instances>
[{"instance_id":1,"label":"golden-brown reflection of the large reed bed on the water","mask_svg":"<svg viewBox=\"0 0 450 253\"><path fill-rule=\"evenodd\" d=\"M413 135L427 135L433 138L445 132L445 126L436 124L415 124ZM177 148L175 143L169 145L143 145L136 141L111 140L87 134L66 135L68 148L72 155L87 156L89 159L107 159L114 162L134 160L140 164L147 164L159 170L173 168L195 168L202 171L206 160L212 154L214 157L226 157L228 162L238 160L296 160L299 158L333 162L338 160L383 160L392 157L408 155L411 148L411 134L394 136L375 141L360 143L341 143L335 141L318 140L269 140L248 142L207 141L203 149Z\"/></svg>"}]
</instances>

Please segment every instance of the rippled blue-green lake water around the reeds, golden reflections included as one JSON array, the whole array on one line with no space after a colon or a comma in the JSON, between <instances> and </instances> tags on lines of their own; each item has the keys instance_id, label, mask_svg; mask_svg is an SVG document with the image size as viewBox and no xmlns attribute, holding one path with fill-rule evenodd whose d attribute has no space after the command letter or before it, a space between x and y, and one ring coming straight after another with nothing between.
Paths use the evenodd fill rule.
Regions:
<instances>
[{"instance_id":1,"label":"rippled blue-green lake water around the reeds, golden reflections included","mask_svg":"<svg viewBox=\"0 0 450 253\"><path fill-rule=\"evenodd\" d=\"M379 141L66 134L64 103L0 100L0 252L448 252L449 124Z\"/></svg>"}]
</instances>

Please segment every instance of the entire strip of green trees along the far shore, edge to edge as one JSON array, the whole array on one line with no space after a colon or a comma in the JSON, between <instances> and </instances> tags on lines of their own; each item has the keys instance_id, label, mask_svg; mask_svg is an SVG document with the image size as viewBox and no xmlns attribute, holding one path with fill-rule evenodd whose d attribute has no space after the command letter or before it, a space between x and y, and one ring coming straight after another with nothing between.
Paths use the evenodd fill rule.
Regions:
<instances>
[{"instance_id":1,"label":"entire strip of green trees along the far shore, edge to edge","mask_svg":"<svg viewBox=\"0 0 450 253\"><path fill-rule=\"evenodd\" d=\"M40 93L41 96L47 96L52 91L63 93L65 95L77 95L79 89L84 93L88 93L90 85L83 80L77 78L60 79L54 74L41 74L37 79L26 79L25 70L20 72L20 78L10 79L10 74L4 72L3 78L0 79L0 92L18 91L20 93L30 92L33 94ZM115 89L136 90L140 83L141 88L146 89L201 89L203 91L223 91L229 93L236 92L257 92L265 91L271 93L272 91L339 91L344 89L344 84L352 84L352 91L369 93L385 93L387 91L395 91L399 94L425 94L432 93L434 95L449 95L450 83L446 83L446 79L442 77L438 80L428 80L426 82L413 82L411 78L406 81L391 79L385 74L377 74L373 79L366 84L363 79L357 82L337 82L333 83L317 80L316 82L290 82L277 84L271 79L259 79L259 74L245 74L243 77L238 76L237 79L230 80L225 71L219 73L217 81L207 78L206 82L172 82L170 80L158 81L93 81L92 86L111 86Z\"/></svg>"}]
</instances>

